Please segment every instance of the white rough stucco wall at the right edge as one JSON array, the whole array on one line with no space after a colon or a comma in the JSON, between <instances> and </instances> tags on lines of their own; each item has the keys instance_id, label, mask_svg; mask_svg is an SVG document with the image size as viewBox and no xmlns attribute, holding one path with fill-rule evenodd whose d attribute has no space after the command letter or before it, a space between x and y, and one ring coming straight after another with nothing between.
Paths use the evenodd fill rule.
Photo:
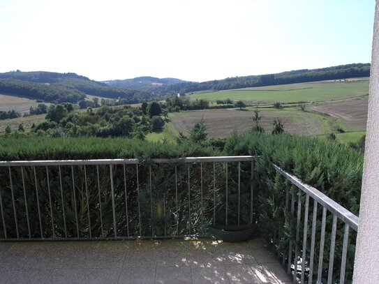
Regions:
<instances>
[{"instance_id":1,"label":"white rough stucco wall at the right edge","mask_svg":"<svg viewBox=\"0 0 379 284\"><path fill-rule=\"evenodd\" d=\"M375 8L366 130L354 284L379 283L379 0Z\"/></svg>"}]
</instances>

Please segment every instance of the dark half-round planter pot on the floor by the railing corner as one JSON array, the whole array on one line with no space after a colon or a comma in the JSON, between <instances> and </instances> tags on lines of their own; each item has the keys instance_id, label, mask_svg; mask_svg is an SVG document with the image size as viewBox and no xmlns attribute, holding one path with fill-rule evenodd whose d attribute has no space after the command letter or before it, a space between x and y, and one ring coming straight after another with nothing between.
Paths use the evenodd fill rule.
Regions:
<instances>
[{"instance_id":1,"label":"dark half-round planter pot on the floor by the railing corner","mask_svg":"<svg viewBox=\"0 0 379 284\"><path fill-rule=\"evenodd\" d=\"M247 241L258 230L257 224L234 225L234 226L209 226L209 231L217 239L228 243Z\"/></svg>"}]
</instances>

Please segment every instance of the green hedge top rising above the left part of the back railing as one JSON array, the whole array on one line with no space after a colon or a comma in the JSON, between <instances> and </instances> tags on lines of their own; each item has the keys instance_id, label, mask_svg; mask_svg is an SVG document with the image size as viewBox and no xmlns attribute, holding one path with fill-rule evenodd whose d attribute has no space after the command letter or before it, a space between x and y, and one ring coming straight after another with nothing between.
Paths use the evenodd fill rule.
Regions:
<instances>
[{"instance_id":1,"label":"green hedge top rising above the left part of the back railing","mask_svg":"<svg viewBox=\"0 0 379 284\"><path fill-rule=\"evenodd\" d=\"M64 160L103 158L176 158L214 156L218 151L196 144L174 145L125 138L36 137L0 138L0 160Z\"/></svg>"}]
</instances>

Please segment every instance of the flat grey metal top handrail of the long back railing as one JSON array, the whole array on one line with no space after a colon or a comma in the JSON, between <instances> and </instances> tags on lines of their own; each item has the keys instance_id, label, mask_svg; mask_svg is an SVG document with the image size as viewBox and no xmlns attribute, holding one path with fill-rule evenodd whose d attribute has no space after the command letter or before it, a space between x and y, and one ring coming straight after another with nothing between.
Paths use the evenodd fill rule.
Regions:
<instances>
[{"instance_id":1,"label":"flat grey metal top handrail of the long back railing","mask_svg":"<svg viewBox=\"0 0 379 284\"><path fill-rule=\"evenodd\" d=\"M254 160L255 156L213 156L186 158L152 158L152 163L209 163L209 162L244 162ZM142 163L138 158L130 159L91 159L91 160L10 160L0 161L0 167L38 166L38 165L135 165Z\"/></svg>"}]
</instances>

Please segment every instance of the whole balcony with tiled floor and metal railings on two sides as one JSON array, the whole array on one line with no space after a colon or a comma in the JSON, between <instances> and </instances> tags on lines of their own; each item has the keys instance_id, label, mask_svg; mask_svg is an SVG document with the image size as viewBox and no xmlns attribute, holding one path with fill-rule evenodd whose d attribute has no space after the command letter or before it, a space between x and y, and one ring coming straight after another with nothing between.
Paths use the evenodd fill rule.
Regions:
<instances>
[{"instance_id":1,"label":"whole balcony with tiled floor and metal railings on two sides","mask_svg":"<svg viewBox=\"0 0 379 284\"><path fill-rule=\"evenodd\" d=\"M210 237L258 222L254 160L0 162L0 283L350 283L358 218L276 165L275 222Z\"/></svg>"}]
</instances>

